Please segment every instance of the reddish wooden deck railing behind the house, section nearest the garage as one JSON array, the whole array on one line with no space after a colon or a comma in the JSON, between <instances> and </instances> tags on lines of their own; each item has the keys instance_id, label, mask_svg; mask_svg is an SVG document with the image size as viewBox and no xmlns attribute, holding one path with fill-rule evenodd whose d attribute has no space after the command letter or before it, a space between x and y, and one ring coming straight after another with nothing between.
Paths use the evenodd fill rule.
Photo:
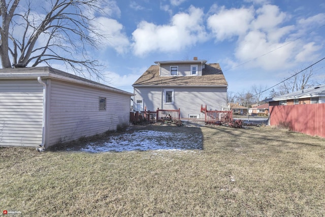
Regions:
<instances>
[{"instance_id":1,"label":"reddish wooden deck railing behind the house, section nearest the garage","mask_svg":"<svg viewBox=\"0 0 325 217\"><path fill-rule=\"evenodd\" d=\"M130 121L133 123L153 123L165 120L180 120L180 109L157 109L156 111L130 112Z\"/></svg>"}]
</instances>

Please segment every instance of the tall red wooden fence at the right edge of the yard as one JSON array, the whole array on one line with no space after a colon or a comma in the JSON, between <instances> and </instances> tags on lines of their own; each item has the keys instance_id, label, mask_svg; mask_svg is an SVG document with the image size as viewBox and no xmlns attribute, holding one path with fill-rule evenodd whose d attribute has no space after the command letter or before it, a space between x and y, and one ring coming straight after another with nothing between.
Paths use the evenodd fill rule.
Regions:
<instances>
[{"instance_id":1,"label":"tall red wooden fence at the right edge of the yard","mask_svg":"<svg viewBox=\"0 0 325 217\"><path fill-rule=\"evenodd\" d=\"M325 103L270 106L270 125L325 137Z\"/></svg>"}]
</instances>

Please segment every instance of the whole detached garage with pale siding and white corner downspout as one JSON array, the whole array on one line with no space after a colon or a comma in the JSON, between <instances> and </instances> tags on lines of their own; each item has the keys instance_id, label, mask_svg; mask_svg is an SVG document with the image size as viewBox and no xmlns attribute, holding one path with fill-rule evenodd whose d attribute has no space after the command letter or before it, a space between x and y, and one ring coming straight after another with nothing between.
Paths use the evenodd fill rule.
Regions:
<instances>
[{"instance_id":1,"label":"whole detached garage with pale siding and white corner downspout","mask_svg":"<svg viewBox=\"0 0 325 217\"><path fill-rule=\"evenodd\" d=\"M133 94L49 67L0 70L0 145L43 146L116 130Z\"/></svg>"}]
</instances>

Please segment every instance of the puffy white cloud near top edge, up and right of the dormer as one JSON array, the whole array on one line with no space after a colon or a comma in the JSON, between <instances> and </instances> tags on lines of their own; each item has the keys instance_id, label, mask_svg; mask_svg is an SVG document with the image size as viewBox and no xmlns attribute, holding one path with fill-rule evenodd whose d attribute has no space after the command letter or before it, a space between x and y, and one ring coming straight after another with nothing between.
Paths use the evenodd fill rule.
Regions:
<instances>
[{"instance_id":1,"label":"puffy white cloud near top edge, up and right of the dormer","mask_svg":"<svg viewBox=\"0 0 325 217\"><path fill-rule=\"evenodd\" d=\"M217 14L208 18L208 27L217 40L231 39L246 33L249 23L254 18L253 13L253 8L226 10L222 7Z\"/></svg>"}]
</instances>

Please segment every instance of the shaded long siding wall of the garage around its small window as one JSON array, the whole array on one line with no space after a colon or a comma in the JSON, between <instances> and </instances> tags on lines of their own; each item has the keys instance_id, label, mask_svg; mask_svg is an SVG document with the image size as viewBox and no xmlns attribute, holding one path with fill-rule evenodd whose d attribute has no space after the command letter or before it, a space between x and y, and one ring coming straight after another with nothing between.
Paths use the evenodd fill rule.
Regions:
<instances>
[{"instance_id":1,"label":"shaded long siding wall of the garage around its small window","mask_svg":"<svg viewBox=\"0 0 325 217\"><path fill-rule=\"evenodd\" d=\"M49 138L47 145L116 130L128 123L130 96L51 80ZM99 98L107 98L106 111Z\"/></svg>"}]
</instances>

